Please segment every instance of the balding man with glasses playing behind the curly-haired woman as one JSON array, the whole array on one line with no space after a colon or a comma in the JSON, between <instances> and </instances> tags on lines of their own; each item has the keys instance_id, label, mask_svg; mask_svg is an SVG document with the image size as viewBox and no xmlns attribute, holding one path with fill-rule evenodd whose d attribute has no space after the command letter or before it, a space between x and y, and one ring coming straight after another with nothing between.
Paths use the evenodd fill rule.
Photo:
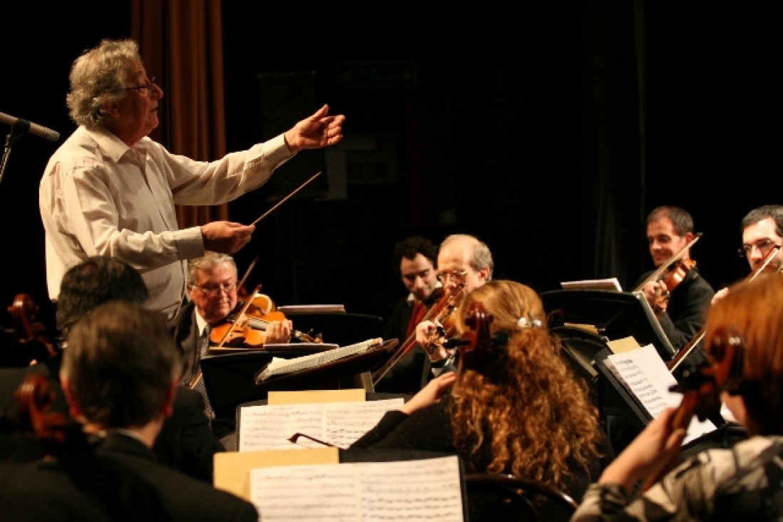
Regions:
<instances>
[{"instance_id":1,"label":"balding man with glasses playing behind the curly-haired woman","mask_svg":"<svg viewBox=\"0 0 783 522\"><path fill-rule=\"evenodd\" d=\"M494 268L492 252L475 236L452 234L443 239L438 250L438 279L443 285L446 301L453 301L451 306L458 306L462 296L491 281ZM435 318L420 322L416 327L416 340L427 352L429 363L424 365L422 385L432 376L456 368L456 353L442 345L451 322L450 317L446 320Z\"/></svg>"}]
</instances>

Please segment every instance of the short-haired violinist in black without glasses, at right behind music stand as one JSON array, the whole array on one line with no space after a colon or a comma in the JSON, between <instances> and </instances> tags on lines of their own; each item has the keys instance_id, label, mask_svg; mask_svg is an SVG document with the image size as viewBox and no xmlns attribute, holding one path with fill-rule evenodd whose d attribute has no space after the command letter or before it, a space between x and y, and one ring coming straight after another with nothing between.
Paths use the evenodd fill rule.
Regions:
<instances>
[{"instance_id":1,"label":"short-haired violinist in black without glasses, at right behind music stand","mask_svg":"<svg viewBox=\"0 0 783 522\"><path fill-rule=\"evenodd\" d=\"M655 268L661 268L694 238L693 218L682 208L667 205L648 214L647 241ZM704 325L704 316L715 292L698 272L688 250L673 265L668 272L677 276L669 278L673 288L666 287L664 275L661 280L644 285L643 291L666 337L679 351ZM633 288L640 286L652 272L645 272Z\"/></svg>"}]
</instances>

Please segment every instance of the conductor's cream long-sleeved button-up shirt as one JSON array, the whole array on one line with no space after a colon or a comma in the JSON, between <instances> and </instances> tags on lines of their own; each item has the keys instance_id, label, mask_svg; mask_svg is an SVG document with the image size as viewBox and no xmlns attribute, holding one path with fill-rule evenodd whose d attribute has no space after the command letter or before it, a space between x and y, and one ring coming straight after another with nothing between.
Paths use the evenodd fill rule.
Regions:
<instances>
[{"instance_id":1,"label":"conductor's cream long-sleeved button-up shirt","mask_svg":"<svg viewBox=\"0 0 783 522\"><path fill-rule=\"evenodd\" d=\"M172 154L149 138L129 148L105 129L78 128L41 178L49 297L56 301L68 268L107 255L138 269L148 308L171 319L186 292L187 260L204 255L200 227L180 230L175 204L235 200L290 157L283 135L207 162Z\"/></svg>"}]
</instances>

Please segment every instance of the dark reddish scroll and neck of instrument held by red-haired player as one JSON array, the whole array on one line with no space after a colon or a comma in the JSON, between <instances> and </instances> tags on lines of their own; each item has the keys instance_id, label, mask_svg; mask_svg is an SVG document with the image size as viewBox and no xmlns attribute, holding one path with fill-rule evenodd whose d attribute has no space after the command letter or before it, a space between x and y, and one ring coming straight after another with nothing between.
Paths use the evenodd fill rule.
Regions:
<instances>
[{"instance_id":1,"label":"dark reddish scroll and neck of instrument held by red-haired player","mask_svg":"<svg viewBox=\"0 0 783 522\"><path fill-rule=\"evenodd\" d=\"M687 430L693 416L699 420L708 419L720 412L720 393L733 391L742 380L744 347L735 330L728 326L716 329L712 343L707 347L707 362L693 372L685 374L683 383L672 388L683 394L671 422L670 430ZM644 481L642 491L647 491L666 473L673 469L679 452L673 452L659 463L654 473Z\"/></svg>"}]
</instances>

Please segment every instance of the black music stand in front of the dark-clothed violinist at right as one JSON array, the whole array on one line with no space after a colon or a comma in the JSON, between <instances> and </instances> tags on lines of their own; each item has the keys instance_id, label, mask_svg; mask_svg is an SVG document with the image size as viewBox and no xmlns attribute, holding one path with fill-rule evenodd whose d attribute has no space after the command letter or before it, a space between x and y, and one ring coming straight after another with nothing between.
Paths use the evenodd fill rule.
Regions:
<instances>
[{"instance_id":1,"label":"black music stand in front of the dark-clothed violinist at right","mask_svg":"<svg viewBox=\"0 0 783 522\"><path fill-rule=\"evenodd\" d=\"M541 301L552 314L550 326L589 324L608 340L633 337L641 346L652 344L664 361L675 354L669 337L640 292L550 290L541 293Z\"/></svg>"}]
</instances>

